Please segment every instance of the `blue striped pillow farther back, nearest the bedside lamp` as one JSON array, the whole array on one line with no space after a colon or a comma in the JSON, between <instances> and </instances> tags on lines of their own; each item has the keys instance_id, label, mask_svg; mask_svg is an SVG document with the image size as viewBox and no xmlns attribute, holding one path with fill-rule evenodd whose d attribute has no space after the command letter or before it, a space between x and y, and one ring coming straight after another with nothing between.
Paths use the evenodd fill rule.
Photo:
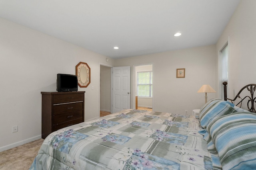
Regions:
<instances>
[{"instance_id":1,"label":"blue striped pillow farther back, nearest the bedside lamp","mask_svg":"<svg viewBox=\"0 0 256 170\"><path fill-rule=\"evenodd\" d=\"M202 128L206 129L207 125L216 117L237 112L234 104L220 100L209 100L199 111L199 120Z\"/></svg>"}]
</instances>

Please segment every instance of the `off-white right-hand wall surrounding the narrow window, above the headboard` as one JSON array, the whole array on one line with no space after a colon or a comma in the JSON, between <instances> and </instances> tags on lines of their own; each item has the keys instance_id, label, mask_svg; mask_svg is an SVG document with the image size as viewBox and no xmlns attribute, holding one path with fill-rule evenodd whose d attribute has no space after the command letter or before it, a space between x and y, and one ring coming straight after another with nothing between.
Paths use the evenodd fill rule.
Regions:
<instances>
[{"instance_id":1,"label":"off-white right-hand wall surrounding the narrow window, above the headboard","mask_svg":"<svg viewBox=\"0 0 256 170\"><path fill-rule=\"evenodd\" d=\"M256 83L255 9L255 0L242 0L216 44L216 53L218 54L218 51L220 51L229 38L230 65L228 98L234 98L234 94L237 94L245 85Z\"/></svg>"}]
</instances>

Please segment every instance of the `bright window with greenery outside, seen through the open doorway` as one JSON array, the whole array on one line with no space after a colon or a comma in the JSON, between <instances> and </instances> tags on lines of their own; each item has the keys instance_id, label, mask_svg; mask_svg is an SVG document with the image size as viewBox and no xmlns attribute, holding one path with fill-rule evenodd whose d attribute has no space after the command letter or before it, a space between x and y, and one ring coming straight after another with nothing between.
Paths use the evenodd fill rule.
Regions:
<instances>
[{"instance_id":1,"label":"bright window with greenery outside, seen through the open doorway","mask_svg":"<svg viewBox=\"0 0 256 170\"><path fill-rule=\"evenodd\" d=\"M137 73L137 94L139 97L152 97L152 71Z\"/></svg>"}]
</instances>

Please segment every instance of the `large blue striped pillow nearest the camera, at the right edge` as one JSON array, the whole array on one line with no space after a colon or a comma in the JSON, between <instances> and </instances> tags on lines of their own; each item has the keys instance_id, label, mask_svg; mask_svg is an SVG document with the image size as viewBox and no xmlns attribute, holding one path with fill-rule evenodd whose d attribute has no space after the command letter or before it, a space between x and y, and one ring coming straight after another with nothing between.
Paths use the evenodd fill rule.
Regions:
<instances>
[{"instance_id":1,"label":"large blue striped pillow nearest the camera, at the right edge","mask_svg":"<svg viewBox=\"0 0 256 170\"><path fill-rule=\"evenodd\" d=\"M255 170L256 115L237 112L223 115L207 129L218 152L223 170Z\"/></svg>"}]
</instances>

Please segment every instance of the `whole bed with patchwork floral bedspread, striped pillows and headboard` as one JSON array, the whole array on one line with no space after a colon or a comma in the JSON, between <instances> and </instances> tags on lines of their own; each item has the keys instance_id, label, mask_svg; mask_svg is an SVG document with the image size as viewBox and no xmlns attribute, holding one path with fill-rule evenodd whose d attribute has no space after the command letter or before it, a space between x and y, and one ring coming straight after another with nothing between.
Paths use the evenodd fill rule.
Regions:
<instances>
[{"instance_id":1,"label":"whole bed with patchwork floral bedspread, striped pillows and headboard","mask_svg":"<svg viewBox=\"0 0 256 170\"><path fill-rule=\"evenodd\" d=\"M212 99L198 118L126 109L72 125L46 137L30 169L255 169L256 115L232 102Z\"/></svg>"}]
</instances>

